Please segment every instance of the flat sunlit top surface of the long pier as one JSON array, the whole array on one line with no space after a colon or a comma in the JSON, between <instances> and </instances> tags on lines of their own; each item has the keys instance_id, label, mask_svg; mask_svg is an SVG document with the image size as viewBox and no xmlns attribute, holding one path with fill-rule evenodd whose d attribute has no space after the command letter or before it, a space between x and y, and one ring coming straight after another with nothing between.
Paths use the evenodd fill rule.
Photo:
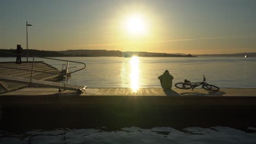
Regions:
<instances>
[{"instance_id":1,"label":"flat sunlit top surface of the long pier","mask_svg":"<svg viewBox=\"0 0 256 144\"><path fill-rule=\"evenodd\" d=\"M211 92L205 89L162 89L162 88L87 88L82 94L74 91L62 91L56 88L28 87L17 91L0 94L7 95L71 95L71 96L196 96L196 97L256 97L256 88L222 88L220 91Z\"/></svg>"}]
</instances>

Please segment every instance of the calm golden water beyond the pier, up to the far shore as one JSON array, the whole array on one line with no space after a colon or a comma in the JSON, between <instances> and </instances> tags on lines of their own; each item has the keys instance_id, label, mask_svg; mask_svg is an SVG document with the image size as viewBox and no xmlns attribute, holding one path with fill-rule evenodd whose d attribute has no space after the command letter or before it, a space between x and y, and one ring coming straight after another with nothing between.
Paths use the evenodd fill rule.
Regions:
<instances>
[{"instance_id":1,"label":"calm golden water beyond the pier, up to the far shore","mask_svg":"<svg viewBox=\"0 0 256 144\"><path fill-rule=\"evenodd\" d=\"M200 82L206 76L208 83L220 88L256 88L256 57L61 57L84 62L86 68L72 74L69 83L95 87L160 87L158 76L166 69L174 76L173 83L184 79ZM0 58L1 62L15 58ZM22 59L23 61L25 60ZM63 62L44 61L61 70ZM82 67L70 63L70 67ZM77 68L71 68L75 70Z\"/></svg>"}]
</instances>

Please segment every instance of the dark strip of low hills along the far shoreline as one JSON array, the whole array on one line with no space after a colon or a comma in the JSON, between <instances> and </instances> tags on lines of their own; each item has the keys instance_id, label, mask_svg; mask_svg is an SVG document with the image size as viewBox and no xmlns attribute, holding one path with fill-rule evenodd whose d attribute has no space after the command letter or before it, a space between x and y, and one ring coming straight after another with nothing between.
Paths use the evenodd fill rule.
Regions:
<instances>
[{"instance_id":1,"label":"dark strip of low hills along the far shoreline","mask_svg":"<svg viewBox=\"0 0 256 144\"><path fill-rule=\"evenodd\" d=\"M0 57L15 57L15 49L0 49ZM10 53L10 54L7 54ZM26 50L23 54L26 55ZM37 57L256 57L256 52L232 53L232 54L203 54L190 55L184 53L158 53L158 52L131 52L131 51L107 51L107 50L66 50L44 51L28 50L29 56Z\"/></svg>"}]
</instances>

